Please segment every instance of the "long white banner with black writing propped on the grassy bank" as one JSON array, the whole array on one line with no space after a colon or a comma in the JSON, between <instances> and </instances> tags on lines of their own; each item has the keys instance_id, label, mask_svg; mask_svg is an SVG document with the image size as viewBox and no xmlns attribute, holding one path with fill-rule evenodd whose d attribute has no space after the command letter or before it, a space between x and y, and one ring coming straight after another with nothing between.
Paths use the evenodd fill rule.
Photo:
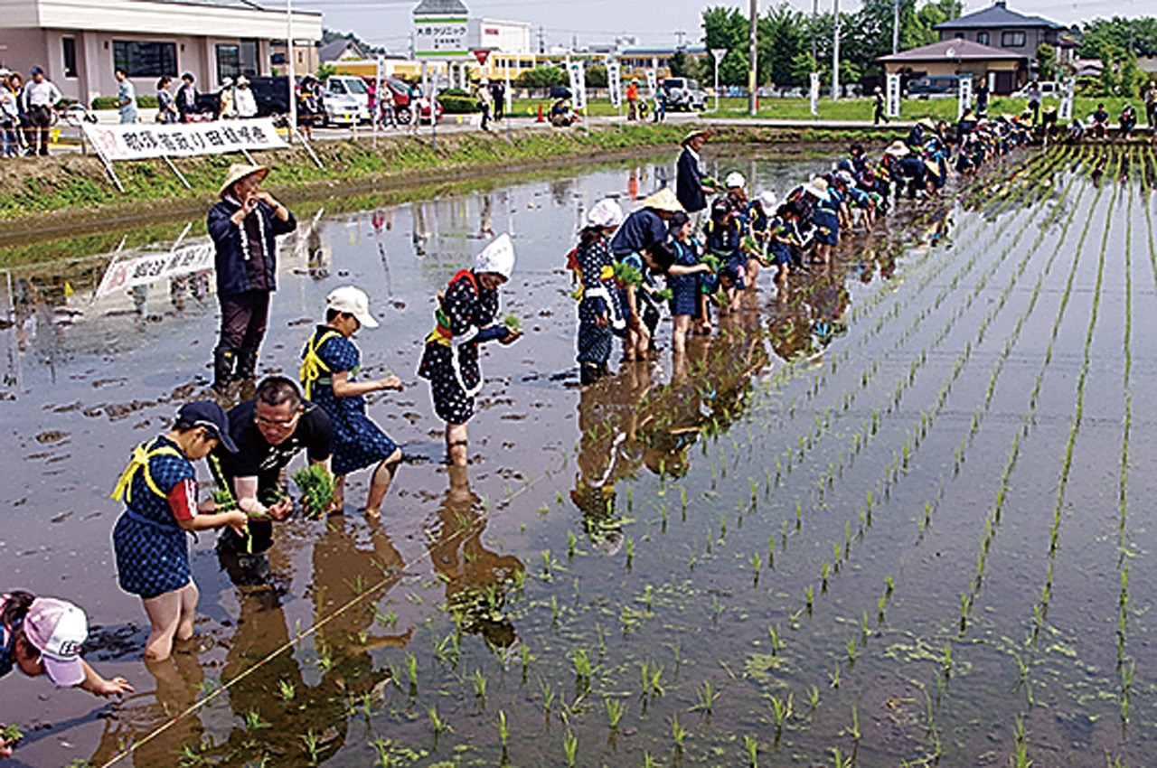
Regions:
<instances>
[{"instance_id":1,"label":"long white banner with black writing propped on the grassy bank","mask_svg":"<svg viewBox=\"0 0 1157 768\"><path fill-rule=\"evenodd\" d=\"M82 123L81 127L109 161L223 155L243 149L256 152L289 146L267 117L170 125Z\"/></svg>"}]
</instances>

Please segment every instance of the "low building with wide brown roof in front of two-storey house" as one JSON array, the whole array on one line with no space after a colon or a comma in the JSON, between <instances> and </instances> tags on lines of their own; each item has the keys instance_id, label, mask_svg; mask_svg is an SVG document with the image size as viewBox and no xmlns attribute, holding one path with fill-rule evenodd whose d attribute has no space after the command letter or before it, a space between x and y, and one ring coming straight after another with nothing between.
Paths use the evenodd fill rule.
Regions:
<instances>
[{"instance_id":1,"label":"low building with wide brown roof in front of two-storey house","mask_svg":"<svg viewBox=\"0 0 1157 768\"><path fill-rule=\"evenodd\" d=\"M909 80L924 75L972 75L974 83L987 82L992 91L1000 95L1019 88L1029 71L1029 58L1024 53L958 37L876 60L889 74L900 73Z\"/></svg>"}]
</instances>

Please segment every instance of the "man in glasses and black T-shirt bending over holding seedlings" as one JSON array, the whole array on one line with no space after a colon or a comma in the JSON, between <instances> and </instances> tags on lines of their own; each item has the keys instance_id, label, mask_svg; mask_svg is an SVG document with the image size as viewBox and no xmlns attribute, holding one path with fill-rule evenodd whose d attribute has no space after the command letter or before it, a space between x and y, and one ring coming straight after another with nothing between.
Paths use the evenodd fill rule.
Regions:
<instances>
[{"instance_id":1,"label":"man in glasses and black T-shirt bending over holding seedlings","mask_svg":"<svg viewBox=\"0 0 1157 768\"><path fill-rule=\"evenodd\" d=\"M270 376L252 400L229 412L236 453L214 450L208 464L220 488L228 488L249 515L249 538L223 533L219 548L258 554L273 545L273 520L283 520L293 500L281 492L281 471L302 450L310 463L330 468L333 442L325 411L303 400L296 382Z\"/></svg>"}]
</instances>

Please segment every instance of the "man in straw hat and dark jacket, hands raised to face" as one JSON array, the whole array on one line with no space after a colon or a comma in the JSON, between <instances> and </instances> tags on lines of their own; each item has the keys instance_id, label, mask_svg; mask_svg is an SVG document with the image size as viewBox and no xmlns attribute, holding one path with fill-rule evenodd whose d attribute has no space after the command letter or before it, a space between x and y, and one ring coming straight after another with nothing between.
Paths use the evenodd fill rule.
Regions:
<instances>
[{"instance_id":1,"label":"man in straw hat and dark jacket, hands raised to face","mask_svg":"<svg viewBox=\"0 0 1157 768\"><path fill-rule=\"evenodd\" d=\"M277 290L277 237L297 228L289 209L261 190L268 172L265 165L230 165L221 202L209 208L221 303L221 338L213 353L213 389L219 393L256 374L270 294Z\"/></svg>"}]
</instances>

